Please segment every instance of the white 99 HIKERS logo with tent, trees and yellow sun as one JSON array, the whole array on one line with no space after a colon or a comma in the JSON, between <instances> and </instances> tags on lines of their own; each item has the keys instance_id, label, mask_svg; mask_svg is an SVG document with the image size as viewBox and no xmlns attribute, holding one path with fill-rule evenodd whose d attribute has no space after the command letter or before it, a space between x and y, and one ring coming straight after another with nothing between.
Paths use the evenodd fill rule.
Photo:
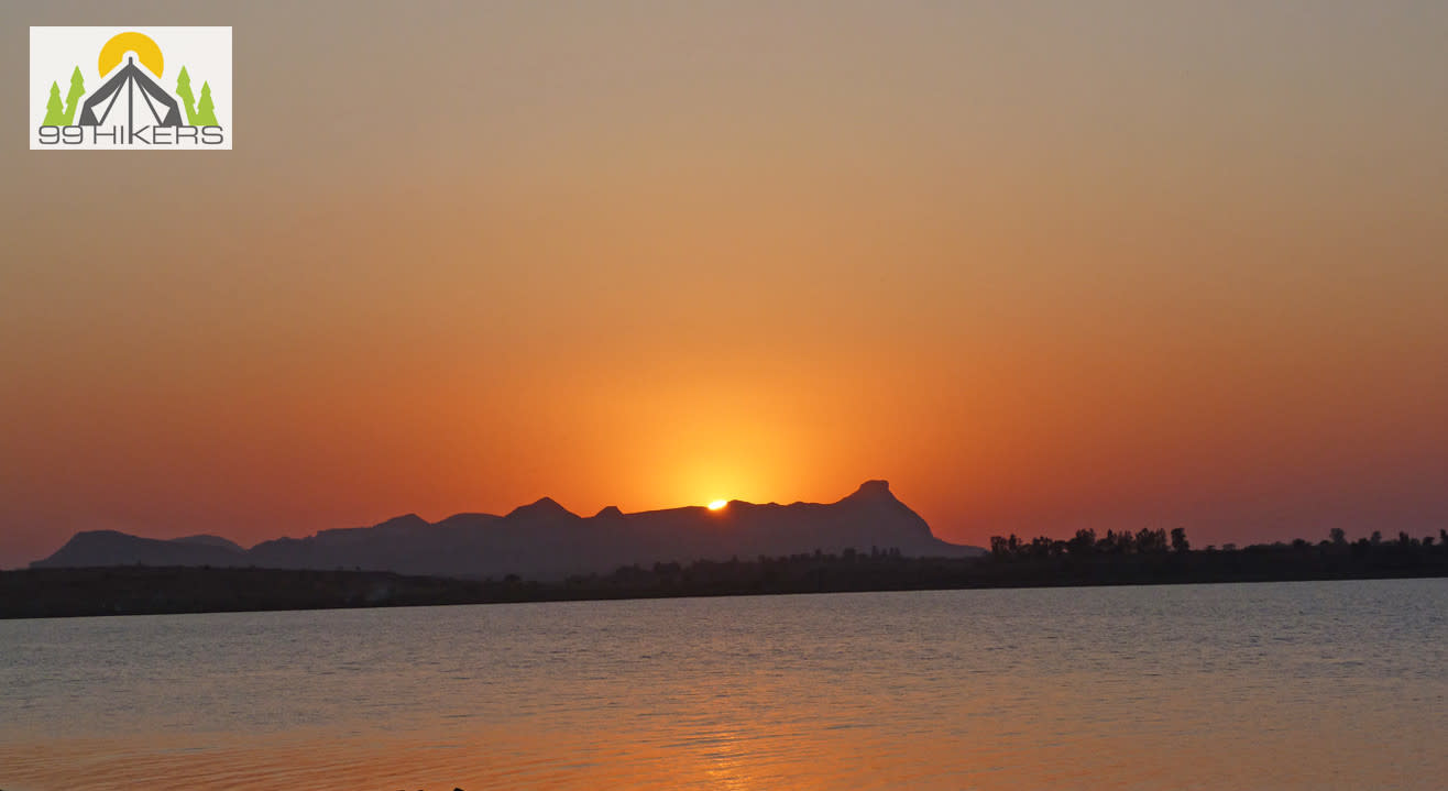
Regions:
<instances>
[{"instance_id":1,"label":"white 99 HIKERS logo with tent, trees and yellow sun","mask_svg":"<svg viewBox=\"0 0 1448 791\"><path fill-rule=\"evenodd\" d=\"M32 151L230 148L230 28L30 28Z\"/></svg>"}]
</instances>

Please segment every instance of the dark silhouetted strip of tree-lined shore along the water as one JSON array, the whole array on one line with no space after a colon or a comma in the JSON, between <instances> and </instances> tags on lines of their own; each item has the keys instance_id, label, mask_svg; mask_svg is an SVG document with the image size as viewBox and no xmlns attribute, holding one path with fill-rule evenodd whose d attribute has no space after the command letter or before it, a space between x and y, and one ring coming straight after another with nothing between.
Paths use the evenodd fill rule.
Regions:
<instances>
[{"instance_id":1,"label":"dark silhouetted strip of tree-lined shore along the water","mask_svg":"<svg viewBox=\"0 0 1448 791\"><path fill-rule=\"evenodd\" d=\"M1073 543L1074 542L1074 543ZM1173 549L1173 546L1176 546ZM1448 577L1448 535L1436 540L1254 545L1193 551L1186 535L1131 542L1083 530L1073 540L1008 536L986 558L904 558L898 551L815 552L753 561L624 566L613 574L533 582L405 577L381 571L256 568L25 569L0 572L0 617L219 613L487 604L589 598L833 591L1156 585Z\"/></svg>"}]
</instances>

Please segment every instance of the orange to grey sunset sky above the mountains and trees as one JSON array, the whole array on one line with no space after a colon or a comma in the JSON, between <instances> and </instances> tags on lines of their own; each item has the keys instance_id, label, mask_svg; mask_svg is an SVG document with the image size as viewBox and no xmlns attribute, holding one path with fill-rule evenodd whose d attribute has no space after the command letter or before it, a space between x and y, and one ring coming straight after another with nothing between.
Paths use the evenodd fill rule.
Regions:
<instances>
[{"instance_id":1,"label":"orange to grey sunset sky above the mountains and trees","mask_svg":"<svg viewBox=\"0 0 1448 791\"><path fill-rule=\"evenodd\" d=\"M235 151L28 151L30 25L233 26ZM1448 527L1441 1L0 32L0 566L869 478L976 545Z\"/></svg>"}]
</instances>

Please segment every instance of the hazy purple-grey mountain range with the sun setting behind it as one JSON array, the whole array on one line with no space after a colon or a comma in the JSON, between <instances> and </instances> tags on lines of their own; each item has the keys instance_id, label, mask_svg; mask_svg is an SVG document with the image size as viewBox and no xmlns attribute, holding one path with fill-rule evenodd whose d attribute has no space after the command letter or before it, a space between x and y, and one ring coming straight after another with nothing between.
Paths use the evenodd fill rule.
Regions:
<instances>
[{"instance_id":1,"label":"hazy purple-grey mountain range with the sun setting behind it","mask_svg":"<svg viewBox=\"0 0 1448 791\"><path fill-rule=\"evenodd\" d=\"M156 540L113 530L77 533L33 568L109 565L214 565L292 569L361 568L446 577L560 579L610 572L621 565L725 561L822 551L898 549L905 556L960 558L983 553L937 539L885 481L867 481L828 504L733 501L634 514L607 507L592 517L569 513L544 497L507 516L458 514L429 523L417 514L372 527L321 530L304 539L262 542L249 551L191 536Z\"/></svg>"}]
</instances>

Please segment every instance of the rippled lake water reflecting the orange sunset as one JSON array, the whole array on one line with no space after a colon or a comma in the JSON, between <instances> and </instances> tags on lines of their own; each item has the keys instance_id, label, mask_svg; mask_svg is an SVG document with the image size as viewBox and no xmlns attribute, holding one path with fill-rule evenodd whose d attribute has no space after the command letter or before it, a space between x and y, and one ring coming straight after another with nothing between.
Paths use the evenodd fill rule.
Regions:
<instances>
[{"instance_id":1,"label":"rippled lake water reflecting the orange sunset","mask_svg":"<svg viewBox=\"0 0 1448 791\"><path fill-rule=\"evenodd\" d=\"M1448 581L0 622L0 788L1444 788Z\"/></svg>"}]
</instances>

